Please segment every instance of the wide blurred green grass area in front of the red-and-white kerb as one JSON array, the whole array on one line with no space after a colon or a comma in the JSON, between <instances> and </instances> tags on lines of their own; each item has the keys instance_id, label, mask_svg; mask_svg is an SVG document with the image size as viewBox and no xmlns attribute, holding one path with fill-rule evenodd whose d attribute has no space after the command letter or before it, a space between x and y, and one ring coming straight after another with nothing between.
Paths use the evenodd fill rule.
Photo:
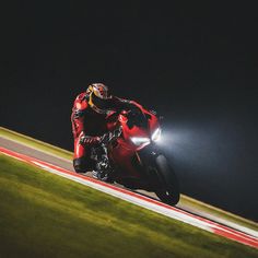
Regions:
<instances>
[{"instance_id":1,"label":"wide blurred green grass area in front of the red-and-white kerb","mask_svg":"<svg viewBox=\"0 0 258 258\"><path fill-rule=\"evenodd\" d=\"M258 250L0 155L0 257L258 257Z\"/></svg>"}]
</instances>

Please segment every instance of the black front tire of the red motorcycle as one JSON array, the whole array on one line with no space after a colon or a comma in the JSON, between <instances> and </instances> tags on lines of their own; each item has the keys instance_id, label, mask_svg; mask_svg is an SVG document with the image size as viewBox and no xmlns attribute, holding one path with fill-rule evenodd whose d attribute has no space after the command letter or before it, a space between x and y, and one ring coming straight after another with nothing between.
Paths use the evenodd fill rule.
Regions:
<instances>
[{"instance_id":1,"label":"black front tire of the red motorcycle","mask_svg":"<svg viewBox=\"0 0 258 258\"><path fill-rule=\"evenodd\" d=\"M156 196L163 202L175 206L180 199L180 192L178 179L174 169L162 154L155 156L154 166L161 183L161 186L155 190Z\"/></svg>"}]
</instances>

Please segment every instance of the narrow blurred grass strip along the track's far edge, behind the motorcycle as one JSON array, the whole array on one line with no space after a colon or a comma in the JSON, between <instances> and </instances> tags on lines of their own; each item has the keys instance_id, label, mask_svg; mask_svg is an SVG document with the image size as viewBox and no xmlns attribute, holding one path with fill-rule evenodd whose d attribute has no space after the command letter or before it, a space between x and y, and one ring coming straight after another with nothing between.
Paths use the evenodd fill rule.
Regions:
<instances>
[{"instance_id":1,"label":"narrow blurred grass strip along the track's far edge, behind the motorcycle","mask_svg":"<svg viewBox=\"0 0 258 258\"><path fill-rule=\"evenodd\" d=\"M40 150L43 152L51 153L54 155L61 156L67 160L72 160L72 155L73 155L72 152L69 152L67 150L63 150L61 148L51 145L51 144L43 142L43 141L38 141L36 139L33 139L31 137L9 130L3 127L0 127L0 136L3 138L7 138L7 139L13 140L13 141L23 143L25 145L35 148L35 149ZM231 222L241 224L241 225L249 227L251 230L257 231L257 228L258 228L258 225L256 222L246 220L244 218L237 216L235 214L223 211L223 210L218 209L215 207L200 202L200 201L189 198L185 195L181 195L181 197L180 197L180 204L188 206L189 208L198 209L199 211L208 212L210 214L213 214L213 215L216 215L221 219L225 219Z\"/></svg>"}]
</instances>

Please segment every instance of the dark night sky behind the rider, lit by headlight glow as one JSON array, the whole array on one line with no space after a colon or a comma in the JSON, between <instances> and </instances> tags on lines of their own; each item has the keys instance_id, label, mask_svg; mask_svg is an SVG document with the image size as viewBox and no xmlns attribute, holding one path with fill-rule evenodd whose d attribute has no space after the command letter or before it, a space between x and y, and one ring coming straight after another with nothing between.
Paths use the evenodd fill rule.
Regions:
<instances>
[{"instance_id":1,"label":"dark night sky behind the rider, lit by headlight glow","mask_svg":"<svg viewBox=\"0 0 258 258\"><path fill-rule=\"evenodd\" d=\"M184 194L258 220L255 7L20 1L3 26L2 126L72 150L72 102L104 82L164 115Z\"/></svg>"}]
</instances>

